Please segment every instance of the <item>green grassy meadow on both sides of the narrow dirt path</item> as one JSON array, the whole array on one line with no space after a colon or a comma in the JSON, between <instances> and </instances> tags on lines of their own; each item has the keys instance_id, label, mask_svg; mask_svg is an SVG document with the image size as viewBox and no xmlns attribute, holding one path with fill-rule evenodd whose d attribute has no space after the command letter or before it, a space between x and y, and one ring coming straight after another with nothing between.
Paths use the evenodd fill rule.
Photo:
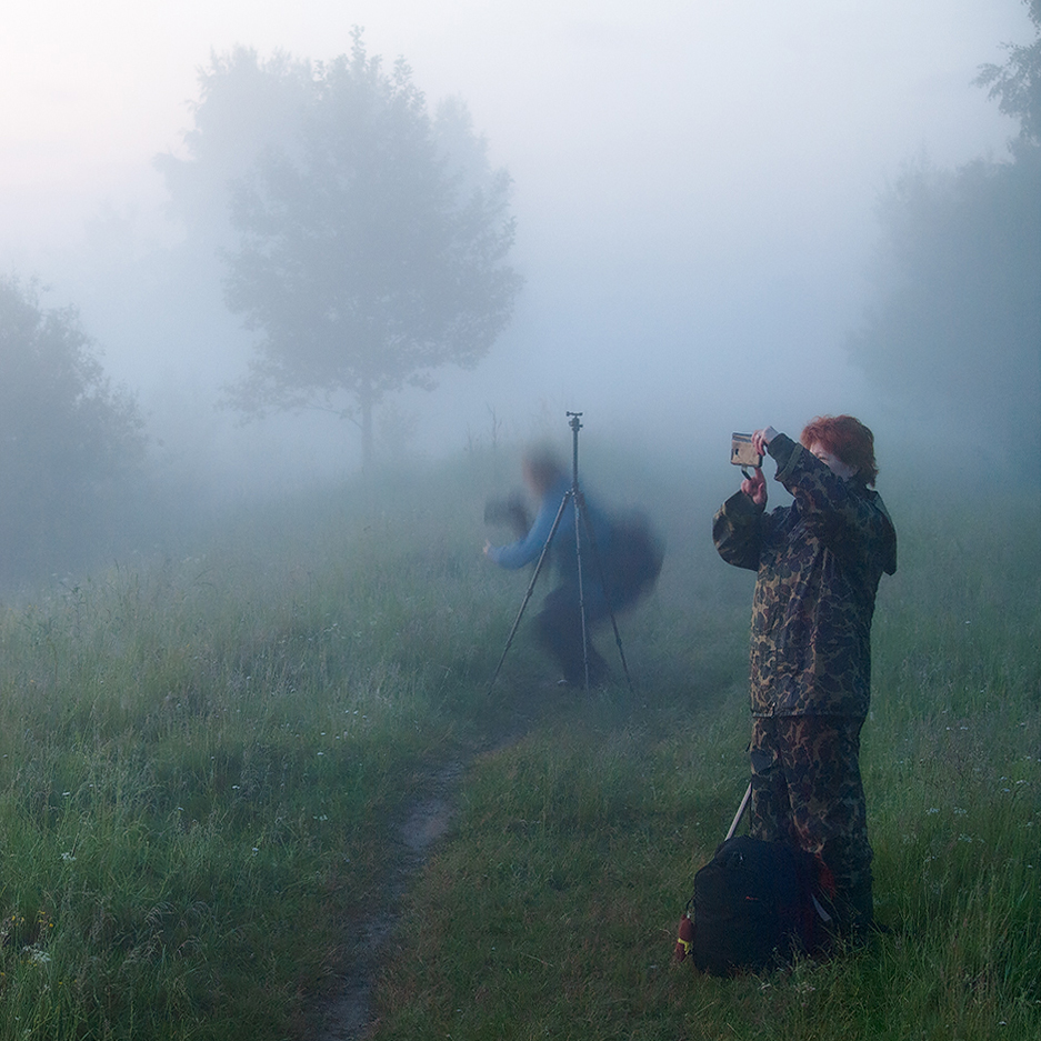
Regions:
<instances>
[{"instance_id":1,"label":"green grassy meadow on both sides of the narrow dirt path","mask_svg":"<svg viewBox=\"0 0 1041 1041\"><path fill-rule=\"evenodd\" d=\"M9 597L0 1039L313 1037L448 763L456 814L391 909L378 1039L1041 1037L1037 498L883 474L901 559L863 767L892 931L719 981L670 955L745 784L752 577L709 540L731 474L590 459L668 538L620 620L634 691L615 668L562 693L522 628L488 694L527 581L480 554L508 457Z\"/></svg>"}]
</instances>

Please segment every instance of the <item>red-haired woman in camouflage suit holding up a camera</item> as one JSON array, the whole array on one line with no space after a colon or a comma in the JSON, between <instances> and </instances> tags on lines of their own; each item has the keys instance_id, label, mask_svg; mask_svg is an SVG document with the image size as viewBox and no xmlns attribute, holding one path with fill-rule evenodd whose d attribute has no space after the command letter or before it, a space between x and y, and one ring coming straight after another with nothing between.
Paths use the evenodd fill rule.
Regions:
<instances>
[{"instance_id":1,"label":"red-haired woman in camouflage suit holding up a camera","mask_svg":"<svg viewBox=\"0 0 1041 1041\"><path fill-rule=\"evenodd\" d=\"M873 924L860 732L871 695L871 619L897 533L881 497L874 437L851 416L819 417L795 443L772 427L752 444L794 497L765 512L757 467L717 512L720 557L757 572L752 604L751 834L800 845L835 882L833 928Z\"/></svg>"}]
</instances>

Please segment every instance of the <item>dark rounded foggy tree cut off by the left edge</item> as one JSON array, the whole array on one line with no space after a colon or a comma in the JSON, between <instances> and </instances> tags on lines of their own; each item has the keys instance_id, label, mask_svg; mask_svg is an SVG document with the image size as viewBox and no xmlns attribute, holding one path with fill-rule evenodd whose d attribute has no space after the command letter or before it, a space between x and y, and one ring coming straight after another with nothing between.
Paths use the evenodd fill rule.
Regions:
<instances>
[{"instance_id":1,"label":"dark rounded foggy tree cut off by the left edge","mask_svg":"<svg viewBox=\"0 0 1041 1041\"><path fill-rule=\"evenodd\" d=\"M74 308L0 279L0 573L81 559L143 459L137 403L113 389Z\"/></svg>"}]
</instances>

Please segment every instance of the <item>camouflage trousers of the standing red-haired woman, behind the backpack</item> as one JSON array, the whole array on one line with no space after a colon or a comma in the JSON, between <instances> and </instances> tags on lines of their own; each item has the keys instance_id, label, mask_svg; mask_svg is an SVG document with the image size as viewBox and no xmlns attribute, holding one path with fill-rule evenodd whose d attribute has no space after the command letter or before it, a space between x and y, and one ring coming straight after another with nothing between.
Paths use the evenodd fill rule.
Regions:
<instances>
[{"instance_id":1,"label":"camouflage trousers of the standing red-haired woman, behind the backpack","mask_svg":"<svg viewBox=\"0 0 1041 1041\"><path fill-rule=\"evenodd\" d=\"M835 881L840 928L873 920L871 845L860 779L863 719L782 715L752 720L751 834L818 854Z\"/></svg>"}]
</instances>

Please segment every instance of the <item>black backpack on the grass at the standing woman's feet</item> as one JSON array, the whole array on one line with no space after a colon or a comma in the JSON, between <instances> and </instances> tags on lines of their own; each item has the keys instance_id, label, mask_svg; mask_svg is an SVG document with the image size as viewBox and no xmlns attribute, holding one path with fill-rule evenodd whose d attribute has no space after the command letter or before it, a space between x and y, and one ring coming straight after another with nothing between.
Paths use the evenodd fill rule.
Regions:
<instances>
[{"instance_id":1,"label":"black backpack on the grass at the standing woman's feet","mask_svg":"<svg viewBox=\"0 0 1041 1041\"><path fill-rule=\"evenodd\" d=\"M821 881L820 863L805 850L749 835L728 839L694 875L677 960L689 954L702 972L731 975L813 953L828 921L817 899Z\"/></svg>"}]
</instances>

